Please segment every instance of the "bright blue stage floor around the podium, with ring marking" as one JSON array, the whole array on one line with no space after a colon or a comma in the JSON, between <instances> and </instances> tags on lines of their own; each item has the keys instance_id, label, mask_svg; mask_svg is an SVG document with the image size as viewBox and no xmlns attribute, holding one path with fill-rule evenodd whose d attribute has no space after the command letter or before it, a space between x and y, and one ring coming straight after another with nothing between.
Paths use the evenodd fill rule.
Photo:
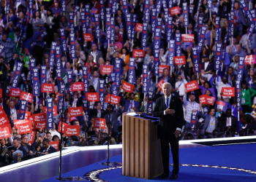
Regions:
<instances>
[{"instance_id":1,"label":"bright blue stage floor around the podium, with ring marking","mask_svg":"<svg viewBox=\"0 0 256 182\"><path fill-rule=\"evenodd\" d=\"M256 144L180 149L180 172L178 173L178 179L175 181L256 181L255 150ZM105 160L102 162L105 162ZM110 162L121 162L121 155L111 158ZM171 170L172 166L170 166ZM88 181L148 181L122 176L121 166L107 167L98 163L73 170L62 176L80 176ZM56 181L58 180L50 178L43 182ZM159 180L154 178L151 181L170 181L170 179Z\"/></svg>"}]
</instances>

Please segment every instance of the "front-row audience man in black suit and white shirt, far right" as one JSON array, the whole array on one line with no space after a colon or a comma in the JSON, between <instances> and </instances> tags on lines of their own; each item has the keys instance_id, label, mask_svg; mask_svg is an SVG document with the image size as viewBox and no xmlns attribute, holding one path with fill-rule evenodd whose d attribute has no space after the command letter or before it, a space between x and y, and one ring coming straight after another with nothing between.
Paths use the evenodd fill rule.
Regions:
<instances>
[{"instance_id":1,"label":"front-row audience man in black suit and white shirt, far right","mask_svg":"<svg viewBox=\"0 0 256 182\"><path fill-rule=\"evenodd\" d=\"M226 114L219 116L219 121L221 122L220 132L225 132L232 130L236 135L238 133L238 120L236 116L231 115L231 109L227 108Z\"/></svg>"}]
</instances>

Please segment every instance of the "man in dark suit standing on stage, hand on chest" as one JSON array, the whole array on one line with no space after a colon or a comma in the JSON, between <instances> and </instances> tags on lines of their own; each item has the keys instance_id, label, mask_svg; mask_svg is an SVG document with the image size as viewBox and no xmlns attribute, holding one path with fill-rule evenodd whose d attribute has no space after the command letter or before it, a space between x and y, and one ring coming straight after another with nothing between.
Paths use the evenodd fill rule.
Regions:
<instances>
[{"instance_id":1,"label":"man in dark suit standing on stage, hand on chest","mask_svg":"<svg viewBox=\"0 0 256 182\"><path fill-rule=\"evenodd\" d=\"M159 117L158 134L161 141L162 164L164 173L159 178L169 177L169 152L173 154L173 175L170 179L178 178L178 137L184 122L184 112L179 98L171 95L170 83L162 85L164 96L158 98L153 116ZM169 146L170 143L170 146Z\"/></svg>"}]
</instances>

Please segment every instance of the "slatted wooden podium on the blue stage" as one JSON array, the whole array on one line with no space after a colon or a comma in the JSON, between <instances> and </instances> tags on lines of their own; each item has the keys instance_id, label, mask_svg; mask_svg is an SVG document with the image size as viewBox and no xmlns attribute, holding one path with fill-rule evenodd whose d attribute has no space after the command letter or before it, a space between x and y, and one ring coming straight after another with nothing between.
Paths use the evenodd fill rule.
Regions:
<instances>
[{"instance_id":1,"label":"slatted wooden podium on the blue stage","mask_svg":"<svg viewBox=\"0 0 256 182\"><path fill-rule=\"evenodd\" d=\"M157 124L127 114L123 114L122 121L122 175L155 178L164 172Z\"/></svg>"}]
</instances>

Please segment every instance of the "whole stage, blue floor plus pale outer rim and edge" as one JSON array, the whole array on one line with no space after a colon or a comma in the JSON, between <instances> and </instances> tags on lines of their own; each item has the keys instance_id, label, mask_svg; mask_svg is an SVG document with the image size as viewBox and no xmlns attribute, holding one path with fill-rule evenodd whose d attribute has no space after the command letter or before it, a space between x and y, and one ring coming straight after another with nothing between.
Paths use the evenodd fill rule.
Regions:
<instances>
[{"instance_id":1,"label":"whole stage, blue floor plus pale outer rim and edge","mask_svg":"<svg viewBox=\"0 0 256 182\"><path fill-rule=\"evenodd\" d=\"M215 142L214 145L216 143L222 142ZM181 141L181 167L176 181L256 181L256 144L214 145L205 140L193 141L193 143L192 141ZM88 175L97 174L97 170L104 168L106 172L97 176L102 181L145 181L140 178L122 176L121 167L109 170L110 168L107 166L99 165L99 162L106 162L106 149L107 146L92 146L72 147L65 150L62 157L61 176L86 178ZM54 153L54 155L49 154L47 159L36 158L37 161L34 162L28 160L26 165L9 165L9 169L1 167L1 180L13 182L58 181L53 177L59 176L59 154ZM121 145L110 146L110 157L110 162L121 162ZM170 163L172 163L171 153ZM87 178L87 180L95 181L97 178ZM157 178L152 180L159 181ZM166 180L170 181L168 178Z\"/></svg>"}]
</instances>

